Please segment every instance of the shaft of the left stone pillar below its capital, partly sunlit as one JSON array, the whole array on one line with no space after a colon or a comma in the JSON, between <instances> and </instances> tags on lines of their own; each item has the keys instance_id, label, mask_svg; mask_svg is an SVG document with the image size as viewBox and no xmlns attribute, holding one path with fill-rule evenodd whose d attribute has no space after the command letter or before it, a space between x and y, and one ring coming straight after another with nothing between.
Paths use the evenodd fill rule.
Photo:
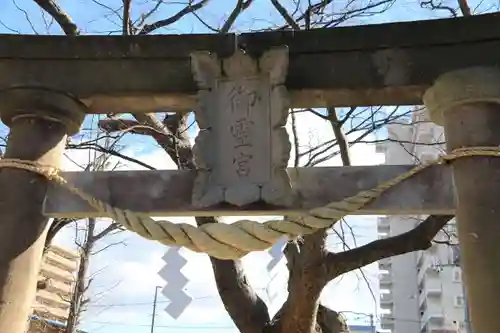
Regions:
<instances>
[{"instance_id":1,"label":"shaft of the left stone pillar below its capital, partly sunlit","mask_svg":"<svg viewBox=\"0 0 500 333\"><path fill-rule=\"evenodd\" d=\"M61 123L17 119L4 157L59 166L66 133ZM37 174L0 169L0 332L27 328L49 225L42 214L47 186Z\"/></svg>"}]
</instances>

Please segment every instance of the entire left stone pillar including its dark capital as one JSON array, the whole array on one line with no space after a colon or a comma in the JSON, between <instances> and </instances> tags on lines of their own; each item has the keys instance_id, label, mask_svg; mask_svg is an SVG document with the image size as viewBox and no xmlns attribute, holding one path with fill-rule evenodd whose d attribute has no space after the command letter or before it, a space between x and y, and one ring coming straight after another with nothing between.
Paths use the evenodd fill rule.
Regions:
<instances>
[{"instance_id":1,"label":"entire left stone pillar including its dark capital","mask_svg":"<svg viewBox=\"0 0 500 333\"><path fill-rule=\"evenodd\" d=\"M59 166L68 135L78 132L84 107L62 93L13 89L0 93L0 116L10 127L4 158ZM48 181L28 171L0 169L0 332L28 324L48 218Z\"/></svg>"}]
</instances>

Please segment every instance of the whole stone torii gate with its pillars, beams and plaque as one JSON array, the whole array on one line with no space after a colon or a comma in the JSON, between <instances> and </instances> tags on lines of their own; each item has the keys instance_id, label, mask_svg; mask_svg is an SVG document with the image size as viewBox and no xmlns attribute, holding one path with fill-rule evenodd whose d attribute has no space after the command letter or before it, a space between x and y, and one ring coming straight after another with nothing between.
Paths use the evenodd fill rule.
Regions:
<instances>
[{"instance_id":1,"label":"whole stone torii gate with its pillars, beams and plaque","mask_svg":"<svg viewBox=\"0 0 500 333\"><path fill-rule=\"evenodd\" d=\"M472 328L497 333L498 59L497 14L238 36L2 36L0 116L10 127L3 158L58 167L67 136L87 113L191 108L206 129L195 147L197 171L63 177L115 207L153 216L294 215L411 166L286 169L288 107L412 105L423 97L450 152L490 147L490 156L426 168L356 213L456 214ZM0 332L21 333L48 218L111 211L97 212L99 205L7 162L0 165Z\"/></svg>"}]
</instances>

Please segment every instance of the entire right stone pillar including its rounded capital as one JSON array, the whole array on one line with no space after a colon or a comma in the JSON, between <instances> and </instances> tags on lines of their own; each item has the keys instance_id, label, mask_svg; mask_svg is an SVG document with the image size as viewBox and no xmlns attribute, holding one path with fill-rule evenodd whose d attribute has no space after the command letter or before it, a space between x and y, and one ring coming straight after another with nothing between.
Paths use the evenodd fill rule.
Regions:
<instances>
[{"instance_id":1,"label":"entire right stone pillar including its rounded capital","mask_svg":"<svg viewBox=\"0 0 500 333\"><path fill-rule=\"evenodd\" d=\"M425 93L447 149L500 146L500 70L468 68L439 77ZM462 268L474 333L500 332L500 158L452 163Z\"/></svg>"}]
</instances>

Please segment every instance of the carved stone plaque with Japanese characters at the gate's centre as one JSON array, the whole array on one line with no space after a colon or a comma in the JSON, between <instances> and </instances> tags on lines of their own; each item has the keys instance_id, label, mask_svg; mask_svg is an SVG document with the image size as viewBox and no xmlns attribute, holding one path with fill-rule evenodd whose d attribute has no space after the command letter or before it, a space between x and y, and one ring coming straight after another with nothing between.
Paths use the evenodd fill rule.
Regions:
<instances>
[{"instance_id":1,"label":"carved stone plaque with Japanese characters at the gate's centre","mask_svg":"<svg viewBox=\"0 0 500 333\"><path fill-rule=\"evenodd\" d=\"M289 203L288 49L270 50L258 60L240 50L226 59L197 52L191 65L200 127L193 203Z\"/></svg>"}]
</instances>

